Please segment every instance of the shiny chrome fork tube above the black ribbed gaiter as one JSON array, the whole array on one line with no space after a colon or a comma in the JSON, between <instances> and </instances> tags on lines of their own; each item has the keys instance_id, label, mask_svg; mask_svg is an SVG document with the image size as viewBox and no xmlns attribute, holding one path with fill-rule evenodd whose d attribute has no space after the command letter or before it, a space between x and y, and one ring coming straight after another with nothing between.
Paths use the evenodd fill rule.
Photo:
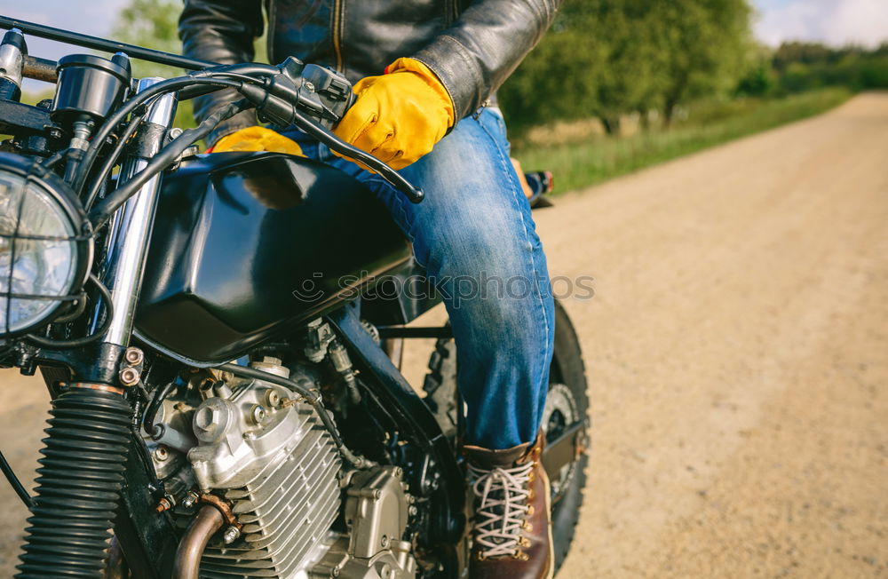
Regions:
<instances>
[{"instance_id":1,"label":"shiny chrome fork tube above the black ribbed gaiter","mask_svg":"<svg viewBox=\"0 0 888 579\"><path fill-rule=\"evenodd\" d=\"M143 78L139 81L138 91L145 91L161 81L163 78ZM148 106L143 123L153 123L168 129L176 115L176 102L174 94L164 94L156 98ZM150 124L144 126L149 128ZM131 155L123 163L121 183L142 171L163 145L165 131L145 132L155 135L154 142L145 142L143 139L138 155ZM161 174L158 173L115 213L108 226L107 252L101 277L102 282L111 290L114 316L103 338L106 343L124 347L129 345L160 186Z\"/></svg>"}]
</instances>

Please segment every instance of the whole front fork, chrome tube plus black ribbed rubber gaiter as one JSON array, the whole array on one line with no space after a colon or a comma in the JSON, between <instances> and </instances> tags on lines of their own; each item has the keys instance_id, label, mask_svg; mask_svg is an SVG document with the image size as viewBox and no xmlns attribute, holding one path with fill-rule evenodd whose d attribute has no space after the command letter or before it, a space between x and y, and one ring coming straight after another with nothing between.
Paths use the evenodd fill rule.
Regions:
<instances>
[{"instance_id":1,"label":"whole front fork, chrome tube plus black ribbed rubber gaiter","mask_svg":"<svg viewBox=\"0 0 888 579\"><path fill-rule=\"evenodd\" d=\"M139 91L161 80L142 79ZM123 163L123 180L144 169L163 147L175 109L172 94L148 106L136 150ZM20 579L99 577L104 572L124 480L130 479L127 458L134 454L134 411L126 394L139 384L142 356L129 346L160 185L160 174L148 180L109 226L99 276L111 291L112 319L101 338L99 359L76 365L74 379L52 401L31 526L16 575ZM99 314L97 307L93 330L99 327Z\"/></svg>"}]
</instances>

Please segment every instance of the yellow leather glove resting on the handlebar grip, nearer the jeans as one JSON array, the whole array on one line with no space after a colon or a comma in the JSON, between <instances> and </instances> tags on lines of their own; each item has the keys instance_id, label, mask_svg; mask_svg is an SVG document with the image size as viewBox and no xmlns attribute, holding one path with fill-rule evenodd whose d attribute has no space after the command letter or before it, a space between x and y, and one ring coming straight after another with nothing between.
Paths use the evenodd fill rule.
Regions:
<instances>
[{"instance_id":1,"label":"yellow leather glove resting on the handlebar grip, nearer the jeans","mask_svg":"<svg viewBox=\"0 0 888 579\"><path fill-rule=\"evenodd\" d=\"M453 101L418 60L397 59L385 73L354 85L358 99L333 132L397 170L431 151L453 126Z\"/></svg>"}]
</instances>

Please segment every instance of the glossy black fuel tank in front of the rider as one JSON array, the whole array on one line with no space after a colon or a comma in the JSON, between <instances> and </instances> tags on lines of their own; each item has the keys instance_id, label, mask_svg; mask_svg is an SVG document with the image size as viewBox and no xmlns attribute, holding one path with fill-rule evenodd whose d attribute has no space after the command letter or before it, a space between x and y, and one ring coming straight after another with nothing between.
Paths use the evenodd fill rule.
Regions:
<instances>
[{"instance_id":1,"label":"glossy black fuel tank in front of the rider","mask_svg":"<svg viewBox=\"0 0 888 579\"><path fill-rule=\"evenodd\" d=\"M358 181L274 153L218 153L163 178L137 336L192 361L232 360L410 258Z\"/></svg>"}]
</instances>

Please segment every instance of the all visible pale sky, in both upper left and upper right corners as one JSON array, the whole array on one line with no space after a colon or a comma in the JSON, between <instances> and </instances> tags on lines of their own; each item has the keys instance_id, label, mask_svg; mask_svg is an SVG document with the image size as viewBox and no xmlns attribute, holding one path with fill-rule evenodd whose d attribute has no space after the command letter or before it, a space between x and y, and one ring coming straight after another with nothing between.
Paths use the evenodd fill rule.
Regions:
<instances>
[{"instance_id":1,"label":"all visible pale sky, in both upper left and upper right corners","mask_svg":"<svg viewBox=\"0 0 888 579\"><path fill-rule=\"evenodd\" d=\"M751 1L758 12L755 35L765 44L809 40L873 47L888 42L888 0ZM104 36L124 4L126 0L0 0L0 14ZM32 38L28 45L32 54L48 59L59 59L70 52L39 38Z\"/></svg>"}]
</instances>

